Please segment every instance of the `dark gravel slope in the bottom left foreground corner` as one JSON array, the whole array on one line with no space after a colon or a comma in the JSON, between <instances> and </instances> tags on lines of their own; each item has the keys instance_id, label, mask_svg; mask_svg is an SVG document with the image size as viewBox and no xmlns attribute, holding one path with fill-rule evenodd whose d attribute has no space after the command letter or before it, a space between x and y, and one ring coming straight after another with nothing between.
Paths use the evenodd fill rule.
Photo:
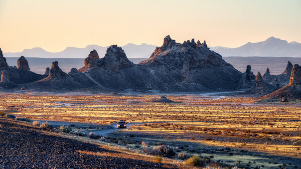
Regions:
<instances>
[{"instance_id":1,"label":"dark gravel slope in the bottom left foreground corner","mask_svg":"<svg viewBox=\"0 0 301 169\"><path fill-rule=\"evenodd\" d=\"M116 151L46 135L39 128L15 124L10 119L0 118L0 125L0 168L165 168L162 163L80 154L76 151Z\"/></svg>"}]
</instances>

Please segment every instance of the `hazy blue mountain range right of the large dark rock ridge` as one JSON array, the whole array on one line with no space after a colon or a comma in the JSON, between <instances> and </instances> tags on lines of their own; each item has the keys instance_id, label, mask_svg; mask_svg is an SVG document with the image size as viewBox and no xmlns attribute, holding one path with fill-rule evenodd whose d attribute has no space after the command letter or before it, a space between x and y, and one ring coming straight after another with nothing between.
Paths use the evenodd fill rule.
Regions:
<instances>
[{"instance_id":1,"label":"hazy blue mountain range right of the large dark rock ridge","mask_svg":"<svg viewBox=\"0 0 301 169\"><path fill-rule=\"evenodd\" d=\"M263 42L250 43L238 48L210 47L222 56L301 57L301 44L270 37Z\"/></svg>"}]
</instances>

